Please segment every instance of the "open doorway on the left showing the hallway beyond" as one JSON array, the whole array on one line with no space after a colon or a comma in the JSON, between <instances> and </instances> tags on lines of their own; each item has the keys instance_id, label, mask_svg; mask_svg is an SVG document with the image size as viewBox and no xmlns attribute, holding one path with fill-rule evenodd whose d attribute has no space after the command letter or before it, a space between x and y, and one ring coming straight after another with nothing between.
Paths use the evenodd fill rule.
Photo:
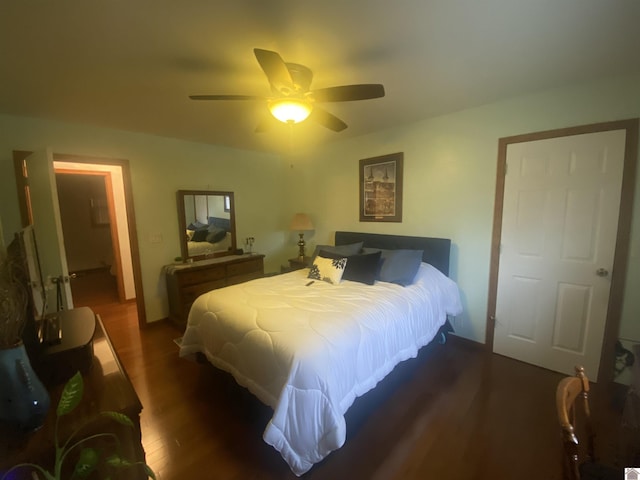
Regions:
<instances>
[{"instance_id":1,"label":"open doorway on the left showing the hallway beyond","mask_svg":"<svg viewBox=\"0 0 640 480\"><path fill-rule=\"evenodd\" d=\"M74 305L135 301L123 167L55 154L53 160Z\"/></svg>"}]
</instances>

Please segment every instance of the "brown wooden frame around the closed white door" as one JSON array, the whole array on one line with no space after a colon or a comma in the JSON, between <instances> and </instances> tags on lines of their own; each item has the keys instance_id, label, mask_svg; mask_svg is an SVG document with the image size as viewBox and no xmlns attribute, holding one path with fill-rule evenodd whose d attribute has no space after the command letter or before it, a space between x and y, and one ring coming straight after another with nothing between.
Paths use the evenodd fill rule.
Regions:
<instances>
[{"instance_id":1,"label":"brown wooden frame around the closed white door","mask_svg":"<svg viewBox=\"0 0 640 480\"><path fill-rule=\"evenodd\" d=\"M605 321L602 351L600 355L600 368L597 379L598 382L613 381L615 343L620 329L620 316L622 313L622 300L629 257L629 235L631 233L636 164L638 160L638 126L639 119L634 118L514 135L511 137L500 138L498 140L498 163L496 170L496 192L493 210L493 232L491 236L491 257L489 264L489 294L485 333L485 348L488 352L493 352L493 337L496 324L495 311L498 295L498 271L500 269L500 240L502 238L502 210L504 206L507 147L514 143L547 140L557 137L583 135L611 130L625 130L624 167L622 173L622 191L620 193L618 232L613 260L613 272L611 274L611 290L609 295L609 304L607 306L607 318Z\"/></svg>"}]
</instances>

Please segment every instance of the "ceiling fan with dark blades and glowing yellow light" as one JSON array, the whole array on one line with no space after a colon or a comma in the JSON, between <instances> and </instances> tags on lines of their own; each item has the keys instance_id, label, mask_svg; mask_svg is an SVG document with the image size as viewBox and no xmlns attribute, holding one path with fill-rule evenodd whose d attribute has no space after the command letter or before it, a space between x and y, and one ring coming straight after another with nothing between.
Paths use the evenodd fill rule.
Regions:
<instances>
[{"instance_id":1,"label":"ceiling fan with dark blades and glowing yellow light","mask_svg":"<svg viewBox=\"0 0 640 480\"><path fill-rule=\"evenodd\" d=\"M266 100L271 114L283 123L299 123L309 118L334 132L347 124L327 112L319 103L350 102L384 97L380 84L342 85L310 90L313 73L304 65L287 63L277 52L254 48L253 52L271 85L272 97L254 95L190 95L192 100ZM261 122L257 132L267 130Z\"/></svg>"}]
</instances>

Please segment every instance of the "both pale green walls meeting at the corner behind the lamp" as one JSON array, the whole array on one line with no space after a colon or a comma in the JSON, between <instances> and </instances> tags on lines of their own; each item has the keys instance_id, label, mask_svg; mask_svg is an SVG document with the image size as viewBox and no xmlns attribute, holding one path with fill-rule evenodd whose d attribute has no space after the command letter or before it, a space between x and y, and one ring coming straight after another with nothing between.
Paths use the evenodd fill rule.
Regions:
<instances>
[{"instance_id":1,"label":"both pale green walls meeting at the corner behind the lamp","mask_svg":"<svg viewBox=\"0 0 640 480\"><path fill-rule=\"evenodd\" d=\"M388 101L392 101L389 95ZM51 147L54 153L130 161L149 321L167 315L162 266L179 254L175 191L210 188L236 194L239 246L247 236L277 271L296 252L287 230L296 211L316 227L311 251L336 230L448 237L451 275L465 312L459 335L484 342L498 139L542 130L640 116L640 76L513 98L336 141L282 159L211 145L0 116L0 220L5 239L19 227L11 151ZM404 152L404 215L399 224L358 220L358 161ZM640 169L639 169L640 172ZM640 285L640 185L636 179L626 292ZM151 243L152 235L163 241ZM620 336L640 342L638 296L626 293Z\"/></svg>"}]
</instances>

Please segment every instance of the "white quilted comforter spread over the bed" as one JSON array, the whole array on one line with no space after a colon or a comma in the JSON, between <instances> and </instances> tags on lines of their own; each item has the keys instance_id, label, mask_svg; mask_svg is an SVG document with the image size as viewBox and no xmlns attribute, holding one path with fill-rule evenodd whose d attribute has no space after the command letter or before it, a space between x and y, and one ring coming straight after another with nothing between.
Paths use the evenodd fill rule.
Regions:
<instances>
[{"instance_id":1,"label":"white quilted comforter spread over the bed","mask_svg":"<svg viewBox=\"0 0 640 480\"><path fill-rule=\"evenodd\" d=\"M343 445L344 414L357 396L462 311L456 284L425 263L409 287L306 286L307 273L202 295L180 348L182 357L204 353L273 408L263 438L296 475Z\"/></svg>"}]
</instances>

